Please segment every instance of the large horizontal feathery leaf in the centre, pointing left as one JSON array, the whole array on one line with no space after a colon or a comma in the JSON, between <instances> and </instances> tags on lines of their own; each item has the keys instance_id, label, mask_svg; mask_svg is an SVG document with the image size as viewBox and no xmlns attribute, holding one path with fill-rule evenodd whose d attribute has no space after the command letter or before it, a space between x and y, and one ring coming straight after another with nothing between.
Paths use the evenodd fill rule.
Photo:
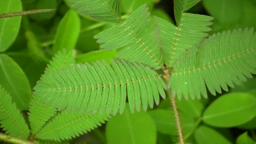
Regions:
<instances>
[{"instance_id":1,"label":"large horizontal feathery leaf in the centre, pointing left","mask_svg":"<svg viewBox=\"0 0 256 144\"><path fill-rule=\"evenodd\" d=\"M126 91L131 111L139 111L141 103L153 107L154 100L159 103L159 93L165 98L165 83L155 71L141 64L126 61L97 61L92 65L75 64L44 75L35 86L35 95L41 96L47 105L67 111L73 109L86 113L123 113ZM159 93L158 93L159 92Z\"/></svg>"}]
</instances>

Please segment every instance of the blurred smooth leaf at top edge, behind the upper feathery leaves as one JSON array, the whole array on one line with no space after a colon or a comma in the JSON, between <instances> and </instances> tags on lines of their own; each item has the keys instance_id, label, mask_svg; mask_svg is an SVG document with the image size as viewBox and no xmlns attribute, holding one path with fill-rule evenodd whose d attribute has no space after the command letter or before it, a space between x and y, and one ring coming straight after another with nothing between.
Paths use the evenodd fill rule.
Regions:
<instances>
[{"instance_id":1,"label":"blurred smooth leaf at top edge, behind the upper feathery leaves","mask_svg":"<svg viewBox=\"0 0 256 144\"><path fill-rule=\"evenodd\" d=\"M126 14L131 14L133 11L135 11L137 8L139 8L141 5L147 4L149 7L149 11L154 6L153 0L121 0L121 12L124 12Z\"/></svg>"}]
</instances>

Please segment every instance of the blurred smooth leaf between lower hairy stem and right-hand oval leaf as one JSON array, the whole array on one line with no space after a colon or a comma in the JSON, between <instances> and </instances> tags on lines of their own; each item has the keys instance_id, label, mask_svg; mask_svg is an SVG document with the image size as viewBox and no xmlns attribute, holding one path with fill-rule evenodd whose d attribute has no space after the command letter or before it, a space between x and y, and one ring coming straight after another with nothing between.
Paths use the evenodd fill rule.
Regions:
<instances>
[{"instance_id":1,"label":"blurred smooth leaf between lower hairy stem and right-hand oval leaf","mask_svg":"<svg viewBox=\"0 0 256 144\"><path fill-rule=\"evenodd\" d=\"M188 101L185 99L181 99L181 101L176 100L176 104L178 109L194 118L200 117L204 109L202 102L198 99L189 99Z\"/></svg>"}]
</instances>

